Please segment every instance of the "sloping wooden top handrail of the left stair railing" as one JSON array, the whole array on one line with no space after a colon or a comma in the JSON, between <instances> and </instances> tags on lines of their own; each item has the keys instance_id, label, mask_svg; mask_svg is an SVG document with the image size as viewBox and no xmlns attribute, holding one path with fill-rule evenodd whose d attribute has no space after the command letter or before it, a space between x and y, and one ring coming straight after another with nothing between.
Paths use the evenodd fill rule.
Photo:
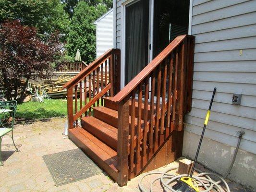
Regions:
<instances>
[{"instance_id":1,"label":"sloping wooden top handrail of the left stair railing","mask_svg":"<svg viewBox=\"0 0 256 192\"><path fill-rule=\"evenodd\" d=\"M110 54L120 54L120 49L112 48L109 49L107 52L105 52L102 56L100 56L98 59L93 61L91 64L88 65L83 71L81 71L79 74L75 75L74 78L69 81L68 83L63 85L63 88L71 87L75 84L77 84L79 81L81 81L86 75L93 72L95 69L97 69L98 65L106 60L108 57L110 57Z\"/></svg>"}]
</instances>

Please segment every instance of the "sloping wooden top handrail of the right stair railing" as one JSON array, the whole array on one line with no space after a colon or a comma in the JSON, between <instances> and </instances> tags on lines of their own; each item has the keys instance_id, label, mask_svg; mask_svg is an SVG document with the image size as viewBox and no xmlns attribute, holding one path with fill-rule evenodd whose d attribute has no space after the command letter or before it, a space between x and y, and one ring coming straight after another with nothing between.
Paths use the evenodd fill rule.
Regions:
<instances>
[{"instance_id":1,"label":"sloping wooden top handrail of the right stair railing","mask_svg":"<svg viewBox=\"0 0 256 192\"><path fill-rule=\"evenodd\" d=\"M121 102L126 96L128 96L135 87L137 87L146 76L152 72L165 58L168 56L171 51L173 51L186 37L195 38L194 36L182 35L177 36L159 55L152 60L146 67L139 72L133 79L130 81L114 98L114 102Z\"/></svg>"}]
</instances>

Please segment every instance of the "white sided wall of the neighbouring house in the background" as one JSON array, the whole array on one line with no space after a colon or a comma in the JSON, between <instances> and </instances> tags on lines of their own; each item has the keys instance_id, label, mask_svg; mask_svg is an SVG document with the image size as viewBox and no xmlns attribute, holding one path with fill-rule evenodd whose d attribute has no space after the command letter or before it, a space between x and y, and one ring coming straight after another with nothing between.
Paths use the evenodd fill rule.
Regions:
<instances>
[{"instance_id":1,"label":"white sided wall of the neighbouring house in the background","mask_svg":"<svg viewBox=\"0 0 256 192\"><path fill-rule=\"evenodd\" d=\"M96 57L100 57L110 48L113 48L113 10L96 24Z\"/></svg>"}]
</instances>

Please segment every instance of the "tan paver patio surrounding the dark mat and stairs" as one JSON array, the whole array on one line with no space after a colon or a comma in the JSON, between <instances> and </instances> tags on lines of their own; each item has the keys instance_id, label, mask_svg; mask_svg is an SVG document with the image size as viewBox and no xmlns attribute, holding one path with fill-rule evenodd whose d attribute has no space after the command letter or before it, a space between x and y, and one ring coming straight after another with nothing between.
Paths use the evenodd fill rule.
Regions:
<instances>
[{"instance_id":1,"label":"tan paver patio surrounding the dark mat and stairs","mask_svg":"<svg viewBox=\"0 0 256 192\"><path fill-rule=\"evenodd\" d=\"M14 152L9 136L3 138L5 162L0 167L0 192L139 192L138 181L141 176L121 188L105 173L56 187L42 156L77 148L61 134L64 122L65 119L50 119L16 125L14 140L20 152ZM172 166L171 164L159 170ZM145 186L149 186L150 180L155 177L145 180ZM231 185L232 192L245 192L240 185ZM159 183L156 183L155 189L157 192L163 191Z\"/></svg>"}]
</instances>

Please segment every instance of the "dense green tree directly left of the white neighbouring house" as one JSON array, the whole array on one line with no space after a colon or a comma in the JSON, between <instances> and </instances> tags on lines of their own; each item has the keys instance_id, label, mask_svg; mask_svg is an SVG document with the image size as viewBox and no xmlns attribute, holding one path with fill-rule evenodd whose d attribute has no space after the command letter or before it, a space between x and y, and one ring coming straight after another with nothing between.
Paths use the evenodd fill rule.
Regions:
<instances>
[{"instance_id":1,"label":"dense green tree directly left of the white neighbouring house","mask_svg":"<svg viewBox=\"0 0 256 192\"><path fill-rule=\"evenodd\" d=\"M78 2L67 36L68 54L74 57L76 50L79 49L81 58L86 63L96 57L96 26L93 22L108 10L105 4L94 3L90 3L90 0Z\"/></svg>"}]
</instances>

